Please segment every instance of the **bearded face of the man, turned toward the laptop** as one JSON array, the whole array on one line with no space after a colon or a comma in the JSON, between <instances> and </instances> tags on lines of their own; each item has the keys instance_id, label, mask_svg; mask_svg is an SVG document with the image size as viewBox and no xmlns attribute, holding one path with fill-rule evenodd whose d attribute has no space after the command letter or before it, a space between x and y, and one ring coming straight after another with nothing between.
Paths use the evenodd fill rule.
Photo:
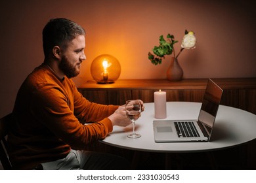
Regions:
<instances>
[{"instance_id":1,"label":"bearded face of the man, turned toward the laptop","mask_svg":"<svg viewBox=\"0 0 256 183\"><path fill-rule=\"evenodd\" d=\"M75 77L80 72L80 66L86 59L85 53L85 36L78 35L73 39L62 52L60 60L60 70L68 78Z\"/></svg>"}]
</instances>

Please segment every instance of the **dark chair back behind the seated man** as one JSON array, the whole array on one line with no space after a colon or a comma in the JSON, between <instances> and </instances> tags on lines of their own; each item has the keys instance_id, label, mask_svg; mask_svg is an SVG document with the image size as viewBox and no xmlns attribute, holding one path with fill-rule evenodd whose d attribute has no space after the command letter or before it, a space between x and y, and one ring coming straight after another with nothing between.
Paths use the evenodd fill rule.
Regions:
<instances>
[{"instance_id":1,"label":"dark chair back behind the seated man","mask_svg":"<svg viewBox=\"0 0 256 183\"><path fill-rule=\"evenodd\" d=\"M12 169L11 162L7 153L6 136L9 133L9 125L11 123L12 114L8 114L0 119L0 161L3 165L3 169Z\"/></svg>"}]
</instances>

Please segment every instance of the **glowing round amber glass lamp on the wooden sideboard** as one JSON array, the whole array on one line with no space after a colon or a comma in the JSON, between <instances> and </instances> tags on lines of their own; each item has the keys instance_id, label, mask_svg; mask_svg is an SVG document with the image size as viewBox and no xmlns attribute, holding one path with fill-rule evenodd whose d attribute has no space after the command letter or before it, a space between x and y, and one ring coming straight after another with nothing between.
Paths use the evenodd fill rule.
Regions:
<instances>
[{"instance_id":1,"label":"glowing round amber glass lamp on the wooden sideboard","mask_svg":"<svg viewBox=\"0 0 256 183\"><path fill-rule=\"evenodd\" d=\"M115 82L121 74L121 65L114 56L103 54L91 63L91 75L99 84Z\"/></svg>"}]
</instances>

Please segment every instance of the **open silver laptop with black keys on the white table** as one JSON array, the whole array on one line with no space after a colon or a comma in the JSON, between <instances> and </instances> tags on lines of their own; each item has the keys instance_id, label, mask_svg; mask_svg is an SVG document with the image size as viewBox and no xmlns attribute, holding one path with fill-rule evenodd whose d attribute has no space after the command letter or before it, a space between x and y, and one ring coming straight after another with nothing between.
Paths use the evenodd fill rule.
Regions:
<instances>
[{"instance_id":1,"label":"open silver laptop with black keys on the white table","mask_svg":"<svg viewBox=\"0 0 256 183\"><path fill-rule=\"evenodd\" d=\"M196 120L154 120L155 142L210 141L223 90L209 79Z\"/></svg>"}]
</instances>

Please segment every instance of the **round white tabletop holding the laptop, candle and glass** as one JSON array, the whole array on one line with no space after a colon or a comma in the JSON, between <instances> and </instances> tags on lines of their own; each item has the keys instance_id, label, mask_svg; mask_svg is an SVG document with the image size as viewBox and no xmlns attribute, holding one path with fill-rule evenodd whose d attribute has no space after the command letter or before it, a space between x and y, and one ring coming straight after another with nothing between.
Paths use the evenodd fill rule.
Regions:
<instances>
[{"instance_id":1,"label":"round white tabletop holding the laptop, candle and glass","mask_svg":"<svg viewBox=\"0 0 256 183\"><path fill-rule=\"evenodd\" d=\"M197 119L202 103L167 102L164 120ZM145 110L135 122L136 132L142 137L129 139L132 125L114 126L112 133L101 142L110 146L144 152L206 152L230 148L256 139L256 115L238 108L220 105L210 142L155 142L153 133L154 103L144 103Z\"/></svg>"}]
</instances>

